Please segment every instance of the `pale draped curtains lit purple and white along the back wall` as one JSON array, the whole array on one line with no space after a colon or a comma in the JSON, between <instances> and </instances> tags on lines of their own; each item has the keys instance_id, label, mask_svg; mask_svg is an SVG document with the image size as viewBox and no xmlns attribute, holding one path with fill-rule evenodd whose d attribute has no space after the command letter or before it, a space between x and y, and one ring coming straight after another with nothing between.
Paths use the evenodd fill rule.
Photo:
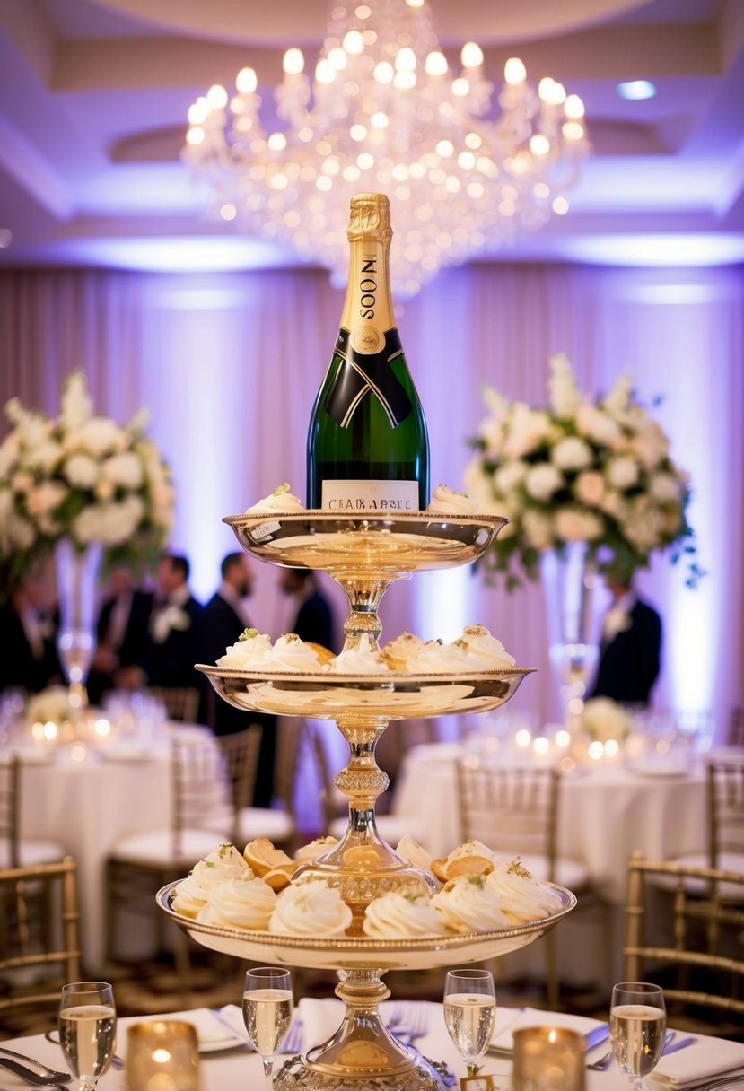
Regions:
<instances>
[{"instance_id":1,"label":"pale draped curtains lit purple and white along the back wall","mask_svg":"<svg viewBox=\"0 0 744 1091\"><path fill-rule=\"evenodd\" d=\"M62 379L82 368L99 411L124 420L147 405L178 488L172 546L191 556L206 598L235 546L221 517L285 480L304 500L307 421L341 302L325 273L308 269L2 272L0 401L17 395L56 411ZM569 357L587 389L629 371L641 398L663 395L656 411L693 476L691 520L708 575L689 591L683 572L658 559L640 577L664 621L655 704L710 709L722 736L731 705L744 702L744 268L471 265L398 310L432 484L460 485L483 385L543 403L553 352ZM255 622L276 636L289 604L275 570L255 567ZM509 597L471 570L419 575L387 592L382 616L385 638L403 628L452 638L465 623L487 624L520 664L541 668L516 705L555 715L539 588Z\"/></svg>"}]
</instances>

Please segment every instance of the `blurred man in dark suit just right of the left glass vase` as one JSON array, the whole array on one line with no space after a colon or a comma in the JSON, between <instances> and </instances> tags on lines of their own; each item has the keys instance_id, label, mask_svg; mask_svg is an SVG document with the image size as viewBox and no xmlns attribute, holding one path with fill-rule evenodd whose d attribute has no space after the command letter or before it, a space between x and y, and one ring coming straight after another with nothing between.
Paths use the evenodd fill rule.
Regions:
<instances>
[{"instance_id":1,"label":"blurred man in dark suit just right of the left glass vase","mask_svg":"<svg viewBox=\"0 0 744 1091\"><path fill-rule=\"evenodd\" d=\"M112 570L108 591L98 614L96 651L87 681L93 704L119 684L122 670L143 661L153 610L153 592L139 590L124 565Z\"/></svg>"}]
</instances>

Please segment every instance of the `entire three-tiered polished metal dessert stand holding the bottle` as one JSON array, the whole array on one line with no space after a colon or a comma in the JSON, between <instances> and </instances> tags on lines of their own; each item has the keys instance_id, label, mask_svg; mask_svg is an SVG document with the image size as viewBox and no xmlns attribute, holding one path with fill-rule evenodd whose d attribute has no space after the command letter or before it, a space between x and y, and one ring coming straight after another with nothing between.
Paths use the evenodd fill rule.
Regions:
<instances>
[{"instance_id":1,"label":"entire three-tiered polished metal dessert stand holding the bottle","mask_svg":"<svg viewBox=\"0 0 744 1091\"><path fill-rule=\"evenodd\" d=\"M346 648L376 647L377 609L387 587L413 572L449 568L477 560L506 523L499 516L444 516L425 512L343 518L328 512L251 513L225 520L254 556L288 567L319 568L346 590L350 614ZM336 995L346 1004L340 1027L328 1041L292 1057L277 1071L277 1091L442 1091L454 1082L445 1066L422 1057L385 1029L377 1005L391 993L388 970L435 969L506 955L544 935L576 904L556 888L562 908L518 927L417 939L372 939L364 935L364 909L387 890L421 894L431 876L404 860L379 836L375 801L387 788L375 745L392 720L454 712L488 711L516 692L532 668L471 674L317 674L199 668L217 693L237 708L335 720L349 744L349 763L335 783L349 800L344 838L292 883L322 878L337 886L352 909L349 936L323 939L248 932L202 924L175 913L176 884L158 892L160 908L197 943L212 950L259 962L339 971ZM454 848L455 846L453 846Z\"/></svg>"}]
</instances>

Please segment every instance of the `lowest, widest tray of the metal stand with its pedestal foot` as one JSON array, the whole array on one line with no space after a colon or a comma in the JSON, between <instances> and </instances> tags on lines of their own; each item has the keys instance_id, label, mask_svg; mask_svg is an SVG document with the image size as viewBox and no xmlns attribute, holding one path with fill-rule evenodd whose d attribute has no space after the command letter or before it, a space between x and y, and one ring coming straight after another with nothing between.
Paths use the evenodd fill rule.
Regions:
<instances>
[{"instance_id":1,"label":"lowest, widest tray of the metal stand with its pedestal foot","mask_svg":"<svg viewBox=\"0 0 744 1091\"><path fill-rule=\"evenodd\" d=\"M388 970L432 970L482 962L539 939L576 906L576 897L554 886L561 908L551 916L512 928L418 939L333 939L203 924L176 913L170 883L157 894L160 909L203 947L252 962L341 971L336 995L346 1004L340 1027L326 1041L292 1057L276 1072L276 1091L444 1091L454 1084L446 1066L422 1057L388 1033L377 1006L391 995Z\"/></svg>"}]
</instances>

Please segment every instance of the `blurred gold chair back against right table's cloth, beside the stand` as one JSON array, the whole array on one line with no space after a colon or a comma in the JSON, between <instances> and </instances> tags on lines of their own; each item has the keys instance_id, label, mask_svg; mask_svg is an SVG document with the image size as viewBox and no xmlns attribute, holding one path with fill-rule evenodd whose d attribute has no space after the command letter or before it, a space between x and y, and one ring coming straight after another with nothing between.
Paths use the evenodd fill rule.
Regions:
<instances>
[{"instance_id":1,"label":"blurred gold chair back against right table's cloth, beside the stand","mask_svg":"<svg viewBox=\"0 0 744 1091\"><path fill-rule=\"evenodd\" d=\"M465 839L496 853L542 856L555 876L560 775L555 769L499 767L466 756L457 763L457 801Z\"/></svg>"}]
</instances>

